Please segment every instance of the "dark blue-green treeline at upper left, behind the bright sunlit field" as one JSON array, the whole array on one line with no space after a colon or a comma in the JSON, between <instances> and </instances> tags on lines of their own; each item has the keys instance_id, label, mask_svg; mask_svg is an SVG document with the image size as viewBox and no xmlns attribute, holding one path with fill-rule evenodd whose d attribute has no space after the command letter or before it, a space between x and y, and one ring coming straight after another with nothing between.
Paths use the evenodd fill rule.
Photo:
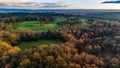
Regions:
<instances>
[{"instance_id":1,"label":"dark blue-green treeline at upper left, behind the bright sunlit field","mask_svg":"<svg viewBox=\"0 0 120 68\"><path fill-rule=\"evenodd\" d=\"M69 17L72 15L60 13L0 13L0 22L18 23L23 21L53 22L56 17Z\"/></svg>"}]
</instances>

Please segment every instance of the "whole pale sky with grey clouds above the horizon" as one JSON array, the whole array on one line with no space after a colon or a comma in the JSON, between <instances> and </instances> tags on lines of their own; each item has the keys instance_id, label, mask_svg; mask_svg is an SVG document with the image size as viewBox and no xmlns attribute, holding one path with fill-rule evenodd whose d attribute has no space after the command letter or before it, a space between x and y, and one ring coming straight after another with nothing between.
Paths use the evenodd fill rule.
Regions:
<instances>
[{"instance_id":1,"label":"whole pale sky with grey clouds above the horizon","mask_svg":"<svg viewBox=\"0 0 120 68\"><path fill-rule=\"evenodd\" d=\"M120 0L0 0L0 8L120 9Z\"/></svg>"}]
</instances>

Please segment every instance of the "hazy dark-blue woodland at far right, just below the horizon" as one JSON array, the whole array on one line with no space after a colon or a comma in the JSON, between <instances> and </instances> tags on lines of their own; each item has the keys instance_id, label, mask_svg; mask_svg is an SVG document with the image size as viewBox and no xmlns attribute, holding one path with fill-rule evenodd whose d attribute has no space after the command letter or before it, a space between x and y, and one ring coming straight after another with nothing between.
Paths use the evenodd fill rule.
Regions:
<instances>
[{"instance_id":1,"label":"hazy dark-blue woodland at far right, just below the horizon","mask_svg":"<svg viewBox=\"0 0 120 68\"><path fill-rule=\"evenodd\" d=\"M120 21L120 12L95 12L95 13L85 13L84 15L80 13L82 17L87 19L102 19L110 21Z\"/></svg>"}]
</instances>

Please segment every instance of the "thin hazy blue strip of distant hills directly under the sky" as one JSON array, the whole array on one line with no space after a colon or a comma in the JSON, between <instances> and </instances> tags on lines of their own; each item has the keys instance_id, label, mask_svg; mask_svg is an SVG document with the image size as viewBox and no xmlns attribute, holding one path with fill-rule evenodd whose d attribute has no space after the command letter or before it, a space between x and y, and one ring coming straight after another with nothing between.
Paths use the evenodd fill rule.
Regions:
<instances>
[{"instance_id":1,"label":"thin hazy blue strip of distant hills directly under the sky","mask_svg":"<svg viewBox=\"0 0 120 68\"><path fill-rule=\"evenodd\" d=\"M102 9L10 9L0 8L0 12L120 12L120 10L102 10Z\"/></svg>"}]
</instances>

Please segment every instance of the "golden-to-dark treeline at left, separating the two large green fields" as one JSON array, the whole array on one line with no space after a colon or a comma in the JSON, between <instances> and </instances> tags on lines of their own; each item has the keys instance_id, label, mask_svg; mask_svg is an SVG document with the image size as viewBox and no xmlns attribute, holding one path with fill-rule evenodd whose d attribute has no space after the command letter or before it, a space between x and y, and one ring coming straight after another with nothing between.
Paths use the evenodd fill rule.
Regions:
<instances>
[{"instance_id":1,"label":"golden-to-dark treeline at left, separating the two large green fields","mask_svg":"<svg viewBox=\"0 0 120 68\"><path fill-rule=\"evenodd\" d=\"M20 42L37 41L42 39L56 39L63 42L67 41L60 32L52 31L0 31L0 39L13 46Z\"/></svg>"}]
</instances>

